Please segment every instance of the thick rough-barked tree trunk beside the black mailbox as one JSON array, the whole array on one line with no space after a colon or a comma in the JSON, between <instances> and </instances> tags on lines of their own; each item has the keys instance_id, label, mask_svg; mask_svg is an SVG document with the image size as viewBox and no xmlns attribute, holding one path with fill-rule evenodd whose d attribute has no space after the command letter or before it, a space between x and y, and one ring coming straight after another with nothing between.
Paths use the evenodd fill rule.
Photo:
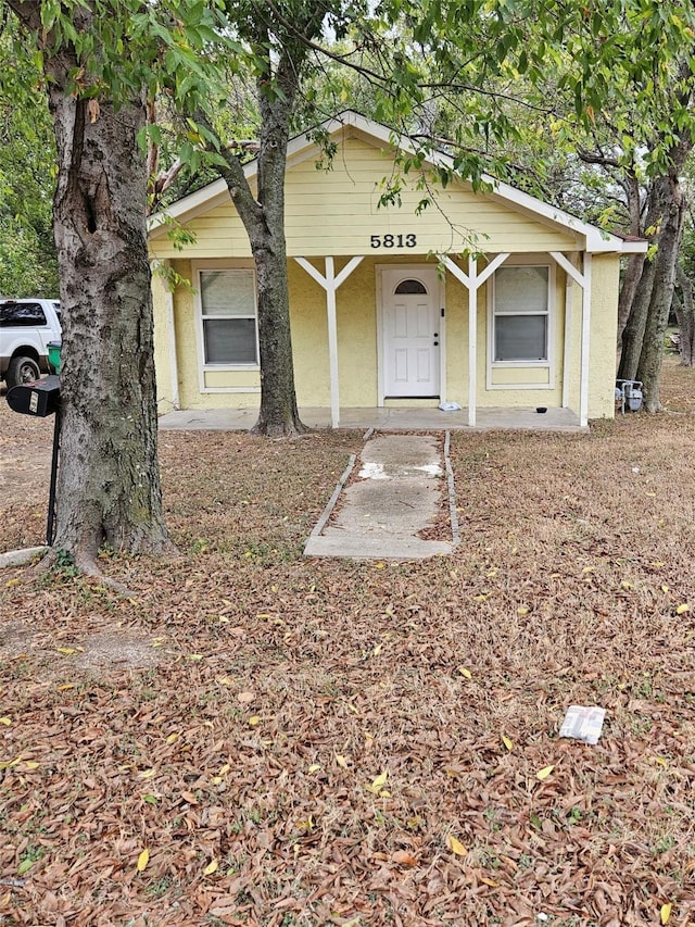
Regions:
<instances>
[{"instance_id":1,"label":"thick rough-barked tree trunk beside the black mailbox","mask_svg":"<svg viewBox=\"0 0 695 927\"><path fill-rule=\"evenodd\" d=\"M65 93L79 62L45 61L59 177L63 430L55 550L84 568L103 543L173 550L156 458L153 316L146 233L144 99L117 110Z\"/></svg>"}]
</instances>

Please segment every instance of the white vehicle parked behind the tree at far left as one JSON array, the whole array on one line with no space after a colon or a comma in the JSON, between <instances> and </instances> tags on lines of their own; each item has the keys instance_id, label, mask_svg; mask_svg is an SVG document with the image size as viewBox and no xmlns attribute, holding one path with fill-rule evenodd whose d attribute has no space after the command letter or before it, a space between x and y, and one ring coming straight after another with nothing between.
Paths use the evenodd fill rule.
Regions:
<instances>
[{"instance_id":1,"label":"white vehicle parked behind the tree at far left","mask_svg":"<svg viewBox=\"0 0 695 927\"><path fill-rule=\"evenodd\" d=\"M0 379L8 389L48 373L48 342L60 338L58 300L0 300Z\"/></svg>"}]
</instances>

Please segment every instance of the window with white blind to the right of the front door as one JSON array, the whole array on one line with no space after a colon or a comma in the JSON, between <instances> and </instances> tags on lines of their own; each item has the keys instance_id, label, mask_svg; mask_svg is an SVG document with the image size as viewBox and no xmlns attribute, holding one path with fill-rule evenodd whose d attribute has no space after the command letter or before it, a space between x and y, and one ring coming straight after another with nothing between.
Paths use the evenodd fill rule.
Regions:
<instances>
[{"instance_id":1,"label":"window with white blind to the right of the front door","mask_svg":"<svg viewBox=\"0 0 695 927\"><path fill-rule=\"evenodd\" d=\"M500 267L494 275L493 363L548 360L549 267Z\"/></svg>"}]
</instances>

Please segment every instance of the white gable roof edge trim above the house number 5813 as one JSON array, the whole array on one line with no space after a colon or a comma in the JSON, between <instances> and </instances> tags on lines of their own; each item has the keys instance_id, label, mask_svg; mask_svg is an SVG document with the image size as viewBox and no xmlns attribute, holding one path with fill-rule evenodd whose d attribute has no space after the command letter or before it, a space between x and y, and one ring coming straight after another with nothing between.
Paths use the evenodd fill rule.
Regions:
<instances>
[{"instance_id":1,"label":"white gable roof edge trim above the house number 5813","mask_svg":"<svg viewBox=\"0 0 695 927\"><path fill-rule=\"evenodd\" d=\"M416 153L416 148L407 136L396 136L387 126L374 122L353 110L346 110L333 118L327 120L321 124L320 128L329 137L342 134L348 128L375 147L397 148L407 153ZM309 138L309 135L311 133L303 133L292 138L288 143L288 168L291 170L293 163L309 158L317 152L317 145ZM454 170L453 158L443 152L430 153L425 159L425 163L433 167L443 166L447 170ZM257 175L257 159L253 159L244 165L244 175L251 183L253 183L254 177ZM574 235L582 236L585 242L585 250L589 252L642 253L647 250L647 242L644 239L635 239L630 236L605 231L488 174L483 175L483 180L489 185L490 189L479 193L479 196L496 201L514 212L530 216L554 228L566 229ZM462 178L460 183L465 185L467 181ZM210 210L228 203L229 191L227 184L223 179L214 180L194 193L189 193L187 197L177 200L166 211L155 213L151 216L149 221L150 236L157 238L166 233L167 217L186 223L205 214Z\"/></svg>"}]
</instances>

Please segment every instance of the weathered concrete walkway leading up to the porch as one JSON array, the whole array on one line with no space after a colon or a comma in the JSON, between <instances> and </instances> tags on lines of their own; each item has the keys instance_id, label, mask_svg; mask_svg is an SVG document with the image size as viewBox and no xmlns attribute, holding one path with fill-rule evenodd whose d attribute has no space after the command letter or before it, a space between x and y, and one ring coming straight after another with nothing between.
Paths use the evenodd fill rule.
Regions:
<instances>
[{"instance_id":1,"label":"weathered concrete walkway leading up to the porch","mask_svg":"<svg viewBox=\"0 0 695 927\"><path fill-rule=\"evenodd\" d=\"M444 456L433 435L367 440L336 487L305 555L415 560L451 553L458 542L455 521L451 541L418 537L434 523L442 502L448 503L455 519L453 476ZM357 467L357 478L345 485Z\"/></svg>"}]
</instances>

